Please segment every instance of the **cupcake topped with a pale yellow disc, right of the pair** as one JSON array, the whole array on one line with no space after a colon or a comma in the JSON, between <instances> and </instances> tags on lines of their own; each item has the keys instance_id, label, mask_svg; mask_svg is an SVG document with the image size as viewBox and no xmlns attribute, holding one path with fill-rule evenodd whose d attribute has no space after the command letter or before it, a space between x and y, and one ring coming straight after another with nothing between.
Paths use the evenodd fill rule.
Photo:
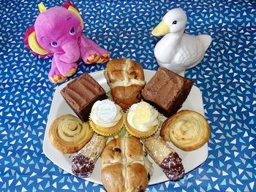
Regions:
<instances>
[{"instance_id":1,"label":"cupcake topped with a pale yellow disc, right of the pair","mask_svg":"<svg viewBox=\"0 0 256 192\"><path fill-rule=\"evenodd\" d=\"M127 112L125 126L129 134L135 137L149 137L159 127L159 112L145 101L132 104Z\"/></svg>"}]
</instances>

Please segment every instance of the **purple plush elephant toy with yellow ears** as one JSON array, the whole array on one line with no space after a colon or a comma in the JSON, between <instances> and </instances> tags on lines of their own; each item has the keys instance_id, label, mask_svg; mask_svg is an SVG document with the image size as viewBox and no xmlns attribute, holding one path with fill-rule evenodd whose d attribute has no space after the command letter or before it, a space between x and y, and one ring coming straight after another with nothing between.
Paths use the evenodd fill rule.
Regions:
<instances>
[{"instance_id":1,"label":"purple plush elephant toy with yellow ears","mask_svg":"<svg viewBox=\"0 0 256 192\"><path fill-rule=\"evenodd\" d=\"M24 42L34 54L53 55L50 82L63 82L75 74L80 59L86 64L103 64L109 60L107 50L83 35L83 20L74 4L67 1L63 7L46 10L41 3L39 11L34 26L26 31Z\"/></svg>"}]
</instances>

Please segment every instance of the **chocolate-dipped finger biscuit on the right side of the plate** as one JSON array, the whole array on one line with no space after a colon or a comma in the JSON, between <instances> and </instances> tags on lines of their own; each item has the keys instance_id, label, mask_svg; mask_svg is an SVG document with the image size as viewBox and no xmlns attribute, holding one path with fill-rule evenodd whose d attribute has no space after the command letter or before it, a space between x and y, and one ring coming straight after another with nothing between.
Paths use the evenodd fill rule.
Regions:
<instances>
[{"instance_id":1,"label":"chocolate-dipped finger biscuit on the right side of the plate","mask_svg":"<svg viewBox=\"0 0 256 192\"><path fill-rule=\"evenodd\" d=\"M145 148L169 180L176 181L184 177L184 166L181 158L162 137L148 137L145 141Z\"/></svg>"}]
</instances>

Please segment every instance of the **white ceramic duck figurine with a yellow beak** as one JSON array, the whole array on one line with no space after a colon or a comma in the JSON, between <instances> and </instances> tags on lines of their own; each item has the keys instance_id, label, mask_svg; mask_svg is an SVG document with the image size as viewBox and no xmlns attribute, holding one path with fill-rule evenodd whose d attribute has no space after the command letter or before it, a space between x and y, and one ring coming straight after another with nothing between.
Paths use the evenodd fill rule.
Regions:
<instances>
[{"instance_id":1,"label":"white ceramic duck figurine with a yellow beak","mask_svg":"<svg viewBox=\"0 0 256 192\"><path fill-rule=\"evenodd\" d=\"M163 36L154 49L159 66L181 73L202 61L211 44L211 36L184 34L187 15L183 9L171 9L162 22L152 31L154 36Z\"/></svg>"}]
</instances>

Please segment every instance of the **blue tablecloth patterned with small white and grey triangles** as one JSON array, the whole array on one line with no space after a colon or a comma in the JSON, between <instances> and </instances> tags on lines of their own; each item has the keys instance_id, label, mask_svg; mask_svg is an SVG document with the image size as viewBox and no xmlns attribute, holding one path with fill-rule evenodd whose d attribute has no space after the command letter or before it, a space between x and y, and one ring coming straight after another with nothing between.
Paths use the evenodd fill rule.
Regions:
<instances>
[{"instance_id":1,"label":"blue tablecloth patterned with small white and grey triangles","mask_svg":"<svg viewBox=\"0 0 256 192\"><path fill-rule=\"evenodd\" d=\"M23 45L40 1L1 1L0 7L0 188L2 191L104 191L59 169L42 152L56 86L49 82L51 58ZM45 7L64 1L44 1ZM203 93L211 125L208 158L178 182L148 191L256 191L256 3L255 1L74 1L84 33L110 50L111 58L133 58L157 70L151 30L168 9L183 8L186 32L211 34L200 65L186 77ZM80 62L78 73L105 69ZM72 77L72 78L74 78ZM70 80L70 78L69 78ZM195 157L196 158L196 157ZM191 159L193 161L193 159Z\"/></svg>"}]
</instances>

